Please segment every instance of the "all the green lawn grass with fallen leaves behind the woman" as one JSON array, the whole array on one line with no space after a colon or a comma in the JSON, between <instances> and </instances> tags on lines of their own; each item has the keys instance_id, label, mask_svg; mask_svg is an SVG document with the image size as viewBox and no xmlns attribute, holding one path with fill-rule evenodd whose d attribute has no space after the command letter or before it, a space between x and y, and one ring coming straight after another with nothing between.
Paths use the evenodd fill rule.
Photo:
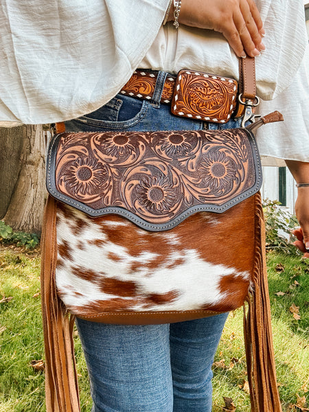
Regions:
<instances>
[{"instance_id":1,"label":"all the green lawn grass with fallen leaves behind the woman","mask_svg":"<svg viewBox=\"0 0 309 412\"><path fill-rule=\"evenodd\" d=\"M45 411L44 373L30 365L43 358L39 265L38 253L25 254L16 247L0 249L0 301L12 297L0 303L1 412ZM307 397L309 404L309 262L268 253L268 273L280 397L284 411L299 412L291 407L297 394ZM277 296L277 292L285 295ZM292 304L299 306L299 320L289 310ZM82 412L90 412L87 369L78 336L75 340ZM230 365L232 358L239 361ZM236 412L249 412L249 395L243 388L247 375L242 310L230 314L215 361L221 361L221 367L214 367L213 411L222 411L226 396L233 399Z\"/></svg>"}]
</instances>

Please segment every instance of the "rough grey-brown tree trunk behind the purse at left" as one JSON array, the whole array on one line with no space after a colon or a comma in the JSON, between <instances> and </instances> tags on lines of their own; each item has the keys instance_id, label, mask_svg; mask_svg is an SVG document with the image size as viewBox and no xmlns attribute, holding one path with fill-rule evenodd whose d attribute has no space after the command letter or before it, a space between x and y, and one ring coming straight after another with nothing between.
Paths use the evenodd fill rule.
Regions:
<instances>
[{"instance_id":1,"label":"rough grey-brown tree trunk behind the purse at left","mask_svg":"<svg viewBox=\"0 0 309 412\"><path fill-rule=\"evenodd\" d=\"M41 233L45 190L42 126L0 128L0 218L14 231Z\"/></svg>"}]
</instances>

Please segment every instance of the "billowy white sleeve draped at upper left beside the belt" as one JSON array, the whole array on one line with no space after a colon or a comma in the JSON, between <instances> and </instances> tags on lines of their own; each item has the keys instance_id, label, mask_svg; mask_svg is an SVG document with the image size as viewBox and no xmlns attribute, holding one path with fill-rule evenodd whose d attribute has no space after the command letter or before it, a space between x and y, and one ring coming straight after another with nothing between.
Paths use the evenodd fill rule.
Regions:
<instances>
[{"instance_id":1,"label":"billowy white sleeve draped at upper left beside the belt","mask_svg":"<svg viewBox=\"0 0 309 412\"><path fill-rule=\"evenodd\" d=\"M169 0L3 0L0 126L72 119L111 100L155 40Z\"/></svg>"}]
</instances>

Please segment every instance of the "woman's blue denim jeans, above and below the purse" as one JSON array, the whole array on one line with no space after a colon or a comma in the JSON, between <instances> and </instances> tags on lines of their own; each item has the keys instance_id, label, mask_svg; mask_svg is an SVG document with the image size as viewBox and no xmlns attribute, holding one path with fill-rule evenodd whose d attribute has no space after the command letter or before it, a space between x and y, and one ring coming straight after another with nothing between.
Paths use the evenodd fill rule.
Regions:
<instances>
[{"instance_id":1,"label":"woman's blue denim jeans, above and below the purse","mask_svg":"<svg viewBox=\"0 0 309 412\"><path fill-rule=\"evenodd\" d=\"M239 127L176 117L154 98L117 95L97 111L66 122L67 131L201 130ZM106 325L77 319L93 412L210 412L211 365L227 314L165 325Z\"/></svg>"}]
</instances>

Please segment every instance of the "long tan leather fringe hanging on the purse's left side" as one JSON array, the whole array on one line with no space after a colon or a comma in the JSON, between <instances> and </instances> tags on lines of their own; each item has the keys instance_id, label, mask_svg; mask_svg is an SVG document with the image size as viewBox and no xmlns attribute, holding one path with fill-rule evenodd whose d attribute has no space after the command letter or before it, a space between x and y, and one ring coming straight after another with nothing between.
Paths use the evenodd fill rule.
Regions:
<instances>
[{"instance_id":1,"label":"long tan leather fringe hanging on the purse's left side","mask_svg":"<svg viewBox=\"0 0 309 412\"><path fill-rule=\"evenodd\" d=\"M56 201L48 196L43 222L41 263L46 410L80 412L73 352L74 317L69 316L56 293L56 242Z\"/></svg>"}]
</instances>

